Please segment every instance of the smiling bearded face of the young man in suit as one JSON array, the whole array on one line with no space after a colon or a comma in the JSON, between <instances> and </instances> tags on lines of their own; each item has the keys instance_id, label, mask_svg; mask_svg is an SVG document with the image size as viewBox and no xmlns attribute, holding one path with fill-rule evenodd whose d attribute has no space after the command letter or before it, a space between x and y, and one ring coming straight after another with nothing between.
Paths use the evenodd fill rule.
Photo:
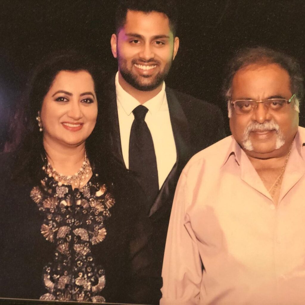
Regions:
<instances>
[{"instance_id":1,"label":"smiling bearded face of the young man in suit","mask_svg":"<svg viewBox=\"0 0 305 305\"><path fill-rule=\"evenodd\" d=\"M163 13L127 11L126 23L111 37L120 85L130 93L161 90L179 47Z\"/></svg>"}]
</instances>

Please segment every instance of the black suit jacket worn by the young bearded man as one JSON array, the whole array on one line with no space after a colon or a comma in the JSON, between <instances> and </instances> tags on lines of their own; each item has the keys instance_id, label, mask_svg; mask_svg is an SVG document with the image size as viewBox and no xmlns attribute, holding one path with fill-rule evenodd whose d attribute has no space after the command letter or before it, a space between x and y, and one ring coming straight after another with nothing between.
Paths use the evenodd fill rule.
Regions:
<instances>
[{"instance_id":1,"label":"black suit jacket worn by the young bearded man","mask_svg":"<svg viewBox=\"0 0 305 305\"><path fill-rule=\"evenodd\" d=\"M136 181L135 175L126 169L123 160L114 78L106 84L103 94L102 131L106 133L106 143L103 146L107 148L113 164L124 169L129 179ZM139 229L135 240L135 272L142 274L139 277L142 277L142 281L138 283L138 302L145 304L157 304L161 297L161 270L167 227L181 171L196 152L225 137L223 117L216 106L170 88L166 88L166 96L177 160L145 216L151 230L141 233ZM140 186L137 196L145 202L145 194Z\"/></svg>"}]
</instances>

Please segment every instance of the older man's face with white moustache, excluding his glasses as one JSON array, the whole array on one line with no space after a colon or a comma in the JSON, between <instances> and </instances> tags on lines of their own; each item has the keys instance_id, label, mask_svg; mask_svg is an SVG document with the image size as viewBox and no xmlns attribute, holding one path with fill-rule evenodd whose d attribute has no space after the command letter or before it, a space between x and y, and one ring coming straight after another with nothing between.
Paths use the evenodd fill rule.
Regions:
<instances>
[{"instance_id":1,"label":"older man's face with white moustache, excluding his glasses","mask_svg":"<svg viewBox=\"0 0 305 305\"><path fill-rule=\"evenodd\" d=\"M261 101L272 98L288 100L291 96L289 74L278 64L251 64L237 71L233 78L232 101L239 99ZM285 111L279 113L269 111L263 103L259 103L249 114L236 114L233 109L230 129L235 140L249 157L278 158L288 153L299 125L299 115L293 105L292 100ZM245 130L250 124L254 126L266 124L263 130L254 128L249 133L249 141L253 146L251 151L245 149L243 145ZM270 127L272 125L278 125L278 131L275 127ZM282 140L282 145L278 148L279 138Z\"/></svg>"}]
</instances>

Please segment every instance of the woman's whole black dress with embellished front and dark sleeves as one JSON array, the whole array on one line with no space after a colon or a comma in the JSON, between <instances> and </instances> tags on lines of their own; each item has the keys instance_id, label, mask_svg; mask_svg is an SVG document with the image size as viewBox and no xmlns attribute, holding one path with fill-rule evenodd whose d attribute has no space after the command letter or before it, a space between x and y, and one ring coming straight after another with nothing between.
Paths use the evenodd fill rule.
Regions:
<instances>
[{"instance_id":1,"label":"woman's whole black dress with embellished front and dark sleeves","mask_svg":"<svg viewBox=\"0 0 305 305\"><path fill-rule=\"evenodd\" d=\"M107 160L110 173L73 190L13 179L13 161L0 155L0 297L148 303L151 226L131 174Z\"/></svg>"}]
</instances>

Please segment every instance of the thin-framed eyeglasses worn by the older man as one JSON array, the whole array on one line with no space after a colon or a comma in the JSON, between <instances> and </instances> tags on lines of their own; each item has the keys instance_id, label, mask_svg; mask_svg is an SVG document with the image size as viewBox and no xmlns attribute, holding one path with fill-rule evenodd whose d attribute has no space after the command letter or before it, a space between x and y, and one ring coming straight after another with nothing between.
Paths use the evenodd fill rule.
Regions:
<instances>
[{"instance_id":1,"label":"thin-framed eyeglasses worn by the older man","mask_svg":"<svg viewBox=\"0 0 305 305\"><path fill-rule=\"evenodd\" d=\"M290 99L265 99L264 101L238 99L236 101L231 101L231 105L234 106L236 114L248 114L252 112L253 109L257 108L258 103L263 103L271 112L282 112L286 106L291 103L294 97L295 94L293 94Z\"/></svg>"}]
</instances>

